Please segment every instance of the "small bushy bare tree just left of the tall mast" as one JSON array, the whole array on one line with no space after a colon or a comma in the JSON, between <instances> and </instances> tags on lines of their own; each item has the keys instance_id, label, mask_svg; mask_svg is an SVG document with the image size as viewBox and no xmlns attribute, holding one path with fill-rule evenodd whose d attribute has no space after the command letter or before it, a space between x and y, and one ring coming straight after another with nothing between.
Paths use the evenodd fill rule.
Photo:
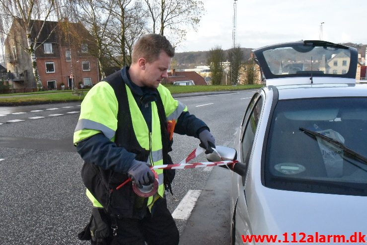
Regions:
<instances>
[{"instance_id":1,"label":"small bushy bare tree just left of the tall mast","mask_svg":"<svg viewBox=\"0 0 367 245\"><path fill-rule=\"evenodd\" d=\"M225 59L225 53L220 46L215 46L212 48L207 57L207 63L212 72L212 84L220 84L221 78L223 76L223 61Z\"/></svg>"}]
</instances>

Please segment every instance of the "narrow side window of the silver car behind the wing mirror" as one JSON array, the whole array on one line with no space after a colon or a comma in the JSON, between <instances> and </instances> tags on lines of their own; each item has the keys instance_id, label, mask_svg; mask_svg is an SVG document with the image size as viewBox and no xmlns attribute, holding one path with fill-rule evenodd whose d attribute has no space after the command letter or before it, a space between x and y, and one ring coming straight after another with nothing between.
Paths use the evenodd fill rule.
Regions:
<instances>
[{"instance_id":1,"label":"narrow side window of the silver car behind the wing mirror","mask_svg":"<svg viewBox=\"0 0 367 245\"><path fill-rule=\"evenodd\" d=\"M242 162L248 167L252 144L255 139L256 128L260 119L261 109L263 107L263 97L260 97L255 104L253 110L250 110L250 116L247 120L245 132L242 137ZM242 177L242 184L244 184L245 177Z\"/></svg>"}]
</instances>

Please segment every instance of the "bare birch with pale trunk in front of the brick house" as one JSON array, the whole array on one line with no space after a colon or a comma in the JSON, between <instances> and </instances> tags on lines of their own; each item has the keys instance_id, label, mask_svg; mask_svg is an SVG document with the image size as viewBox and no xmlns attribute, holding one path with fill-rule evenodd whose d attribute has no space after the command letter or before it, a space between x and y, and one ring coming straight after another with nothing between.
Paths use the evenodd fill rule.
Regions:
<instances>
[{"instance_id":1,"label":"bare birch with pale trunk in front of the brick house","mask_svg":"<svg viewBox=\"0 0 367 245\"><path fill-rule=\"evenodd\" d=\"M41 47L55 32L57 25L49 30L48 36L42 38L45 22L52 18L55 19L56 0L0 0L1 12L1 34L7 36L7 40L12 39L30 57L32 71L36 80L37 87L42 89L41 78L38 73L35 51ZM37 20L37 21L34 21ZM9 32L12 23L14 32ZM24 38L17 38L19 33L24 33ZM23 42L26 40L26 42Z\"/></svg>"}]
</instances>

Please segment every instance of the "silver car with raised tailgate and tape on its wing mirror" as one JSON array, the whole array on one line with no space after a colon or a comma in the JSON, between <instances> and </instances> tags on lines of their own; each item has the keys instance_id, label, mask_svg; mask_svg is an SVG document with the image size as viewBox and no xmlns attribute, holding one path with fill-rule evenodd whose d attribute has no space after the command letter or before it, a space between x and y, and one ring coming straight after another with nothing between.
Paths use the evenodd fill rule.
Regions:
<instances>
[{"instance_id":1,"label":"silver car with raised tailgate and tape on its wing mirror","mask_svg":"<svg viewBox=\"0 0 367 245\"><path fill-rule=\"evenodd\" d=\"M357 50L300 41L254 50L267 86L235 139L231 244L367 241L367 84Z\"/></svg>"}]
</instances>

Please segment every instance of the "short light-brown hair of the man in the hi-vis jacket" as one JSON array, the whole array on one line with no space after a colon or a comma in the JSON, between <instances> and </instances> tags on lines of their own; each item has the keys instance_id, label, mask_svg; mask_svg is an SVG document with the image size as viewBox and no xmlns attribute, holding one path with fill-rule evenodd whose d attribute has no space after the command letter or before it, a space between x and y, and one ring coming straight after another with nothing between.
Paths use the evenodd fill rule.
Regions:
<instances>
[{"instance_id":1,"label":"short light-brown hair of the man in the hi-vis jacket","mask_svg":"<svg viewBox=\"0 0 367 245\"><path fill-rule=\"evenodd\" d=\"M161 51L171 58L175 55L175 49L165 36L153 33L144 35L134 45L132 63L136 63L140 58L149 63L153 62L158 59Z\"/></svg>"}]
</instances>

